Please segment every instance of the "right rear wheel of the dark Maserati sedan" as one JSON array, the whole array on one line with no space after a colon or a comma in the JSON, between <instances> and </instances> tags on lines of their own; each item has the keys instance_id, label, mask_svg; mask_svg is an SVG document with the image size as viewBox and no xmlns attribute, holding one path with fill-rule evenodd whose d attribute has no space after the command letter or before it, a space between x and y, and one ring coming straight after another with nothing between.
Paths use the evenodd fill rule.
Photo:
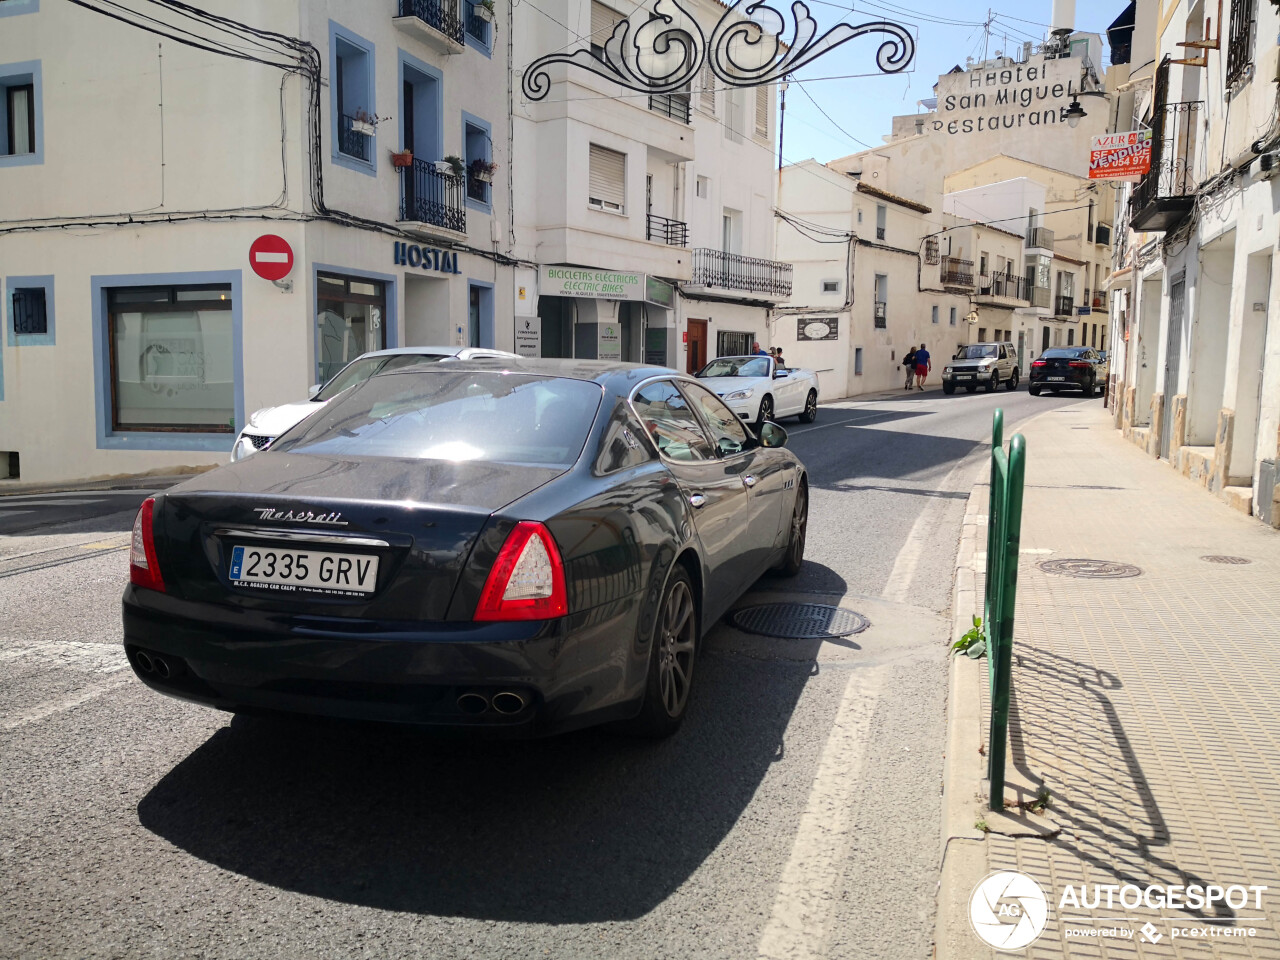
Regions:
<instances>
[{"instance_id":1,"label":"right rear wheel of the dark Maserati sedan","mask_svg":"<svg viewBox=\"0 0 1280 960\"><path fill-rule=\"evenodd\" d=\"M658 604L644 701L634 719L618 724L621 732L660 739L680 730L694 680L699 623L692 581L689 571L677 563Z\"/></svg>"}]
</instances>

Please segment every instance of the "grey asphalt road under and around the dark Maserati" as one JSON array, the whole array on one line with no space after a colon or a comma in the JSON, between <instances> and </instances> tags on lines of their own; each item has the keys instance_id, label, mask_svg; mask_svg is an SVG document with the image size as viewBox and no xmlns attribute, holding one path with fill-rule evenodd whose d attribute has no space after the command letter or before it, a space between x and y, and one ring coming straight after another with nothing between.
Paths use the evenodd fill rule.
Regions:
<instances>
[{"instance_id":1,"label":"grey asphalt road under and around the dark Maserati","mask_svg":"<svg viewBox=\"0 0 1280 960\"><path fill-rule=\"evenodd\" d=\"M20 525L0 498L0 956L929 956L964 500L996 406L1007 435L1075 402L904 392L787 424L808 563L744 603L842 603L872 627L721 623L663 744L155 695L119 648L137 494L110 513L27 497Z\"/></svg>"}]
</instances>

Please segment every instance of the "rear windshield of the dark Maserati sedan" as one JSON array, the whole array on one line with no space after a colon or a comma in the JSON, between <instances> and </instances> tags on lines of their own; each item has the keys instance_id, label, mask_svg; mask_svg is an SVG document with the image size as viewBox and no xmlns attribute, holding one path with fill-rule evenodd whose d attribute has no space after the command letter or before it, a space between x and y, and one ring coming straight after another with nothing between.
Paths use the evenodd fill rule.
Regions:
<instances>
[{"instance_id":1,"label":"rear windshield of the dark Maserati sedan","mask_svg":"<svg viewBox=\"0 0 1280 960\"><path fill-rule=\"evenodd\" d=\"M271 449L567 466L603 393L585 380L416 367L348 390Z\"/></svg>"}]
</instances>

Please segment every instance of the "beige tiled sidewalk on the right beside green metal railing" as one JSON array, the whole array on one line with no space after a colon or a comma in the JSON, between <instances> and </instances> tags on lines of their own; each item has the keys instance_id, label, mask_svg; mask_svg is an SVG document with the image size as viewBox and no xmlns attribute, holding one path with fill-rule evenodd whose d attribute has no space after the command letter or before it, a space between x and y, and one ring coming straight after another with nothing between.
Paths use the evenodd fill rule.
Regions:
<instances>
[{"instance_id":1,"label":"beige tiled sidewalk on the right beside green metal railing","mask_svg":"<svg viewBox=\"0 0 1280 960\"><path fill-rule=\"evenodd\" d=\"M980 852L957 858L965 865L946 872L942 896L966 905L988 872L1033 876L1051 908L1027 956L1280 957L1280 535L1124 443L1100 403L1046 413L1020 433L1028 454L1011 765L1052 791L1061 832L957 838ZM975 494L982 515L987 490ZM984 525L973 531L984 549ZM1142 573L1074 579L1038 566L1059 558ZM980 572L977 589L980 605ZM961 676L983 700L984 727L986 669ZM1066 884L1082 883L1268 890L1261 910L1202 916L1060 911ZM1140 932L1148 920L1156 942ZM952 911L940 956L992 955L966 925L968 911ZM1132 936L1083 933L1102 928ZM1174 928L1198 936L1175 938ZM1256 936L1224 936L1248 928Z\"/></svg>"}]
</instances>

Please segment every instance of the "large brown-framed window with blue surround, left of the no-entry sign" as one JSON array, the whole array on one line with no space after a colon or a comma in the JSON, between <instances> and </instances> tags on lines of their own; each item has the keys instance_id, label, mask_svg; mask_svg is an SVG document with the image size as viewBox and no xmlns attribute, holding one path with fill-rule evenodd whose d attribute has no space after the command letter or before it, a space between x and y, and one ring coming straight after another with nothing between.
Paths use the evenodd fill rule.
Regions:
<instances>
[{"instance_id":1,"label":"large brown-framed window with blue surround, left of the no-entry sign","mask_svg":"<svg viewBox=\"0 0 1280 960\"><path fill-rule=\"evenodd\" d=\"M111 429L233 433L230 284L106 291Z\"/></svg>"}]
</instances>

